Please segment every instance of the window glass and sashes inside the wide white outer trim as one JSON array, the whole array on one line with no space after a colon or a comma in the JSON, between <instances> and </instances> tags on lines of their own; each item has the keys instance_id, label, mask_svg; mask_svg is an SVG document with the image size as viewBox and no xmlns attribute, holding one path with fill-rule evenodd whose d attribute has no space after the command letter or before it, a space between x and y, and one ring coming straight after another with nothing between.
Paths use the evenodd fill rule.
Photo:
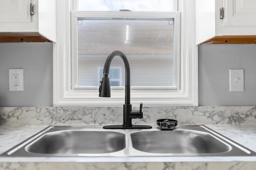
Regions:
<instances>
[{"instance_id":1,"label":"window glass and sashes inside the wide white outer trim","mask_svg":"<svg viewBox=\"0 0 256 170\"><path fill-rule=\"evenodd\" d=\"M176 0L74 0L74 2L78 3L75 5L78 11L73 12L71 18L72 26L74 25L71 30L74 33L72 88L96 87L98 82L95 81L97 78L95 70L102 66L108 53L115 49L123 51L128 57L131 86L180 88L178 71L180 42L177 38L174 47L174 36L179 36L180 31L179 21L176 21L178 14L173 12L177 10L174 8ZM123 12L110 12L125 9L132 12L128 12L124 17L120 17ZM155 13L144 12L142 16L133 11ZM155 14L159 15L159 12L173 13L156 17ZM172 17L176 22L175 32ZM176 48L175 54L174 48ZM116 57L112 66L123 68L123 63ZM122 72L124 77L124 68ZM156 81L152 82L152 79ZM124 84L120 83L119 86Z\"/></svg>"}]
</instances>

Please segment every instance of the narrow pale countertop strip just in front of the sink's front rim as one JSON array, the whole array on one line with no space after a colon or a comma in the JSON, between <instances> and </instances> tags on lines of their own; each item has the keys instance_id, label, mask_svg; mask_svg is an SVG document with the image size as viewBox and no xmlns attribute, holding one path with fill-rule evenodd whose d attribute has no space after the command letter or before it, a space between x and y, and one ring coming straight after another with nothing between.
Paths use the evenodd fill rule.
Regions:
<instances>
[{"instance_id":1,"label":"narrow pale countertop strip just in front of the sink's front rim","mask_svg":"<svg viewBox=\"0 0 256 170\"><path fill-rule=\"evenodd\" d=\"M0 157L4 162L256 162L256 156Z\"/></svg>"}]
</instances>

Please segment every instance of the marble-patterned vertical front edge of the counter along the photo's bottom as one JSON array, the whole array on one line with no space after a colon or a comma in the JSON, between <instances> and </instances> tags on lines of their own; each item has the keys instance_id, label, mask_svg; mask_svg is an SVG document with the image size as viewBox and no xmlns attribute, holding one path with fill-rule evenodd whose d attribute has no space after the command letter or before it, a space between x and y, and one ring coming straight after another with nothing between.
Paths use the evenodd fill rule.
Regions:
<instances>
[{"instance_id":1,"label":"marble-patterned vertical front edge of the counter along the photo's bottom","mask_svg":"<svg viewBox=\"0 0 256 170\"><path fill-rule=\"evenodd\" d=\"M0 163L3 170L255 170L256 162Z\"/></svg>"}]
</instances>

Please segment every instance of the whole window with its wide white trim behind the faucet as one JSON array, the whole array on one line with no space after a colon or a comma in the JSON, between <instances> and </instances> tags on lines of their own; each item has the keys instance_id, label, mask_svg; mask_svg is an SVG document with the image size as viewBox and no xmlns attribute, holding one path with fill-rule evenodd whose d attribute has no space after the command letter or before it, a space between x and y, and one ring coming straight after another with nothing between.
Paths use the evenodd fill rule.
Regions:
<instances>
[{"instance_id":1,"label":"whole window with its wide white trim behind the faucet","mask_svg":"<svg viewBox=\"0 0 256 170\"><path fill-rule=\"evenodd\" d=\"M57 1L54 106L122 106L119 57L110 66L111 98L98 97L104 61L116 48L130 63L132 104L197 105L194 2L179 2L178 8L178 0ZM88 3L100 4L100 11Z\"/></svg>"}]
</instances>

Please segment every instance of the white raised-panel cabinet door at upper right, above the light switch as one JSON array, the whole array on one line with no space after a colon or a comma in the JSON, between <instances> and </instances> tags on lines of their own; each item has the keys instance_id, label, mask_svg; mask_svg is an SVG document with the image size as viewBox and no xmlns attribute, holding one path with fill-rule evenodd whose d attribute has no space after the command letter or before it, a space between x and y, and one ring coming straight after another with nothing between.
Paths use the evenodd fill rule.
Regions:
<instances>
[{"instance_id":1,"label":"white raised-panel cabinet door at upper right, above the light switch","mask_svg":"<svg viewBox=\"0 0 256 170\"><path fill-rule=\"evenodd\" d=\"M224 26L256 26L256 0L224 0Z\"/></svg>"}]
</instances>

